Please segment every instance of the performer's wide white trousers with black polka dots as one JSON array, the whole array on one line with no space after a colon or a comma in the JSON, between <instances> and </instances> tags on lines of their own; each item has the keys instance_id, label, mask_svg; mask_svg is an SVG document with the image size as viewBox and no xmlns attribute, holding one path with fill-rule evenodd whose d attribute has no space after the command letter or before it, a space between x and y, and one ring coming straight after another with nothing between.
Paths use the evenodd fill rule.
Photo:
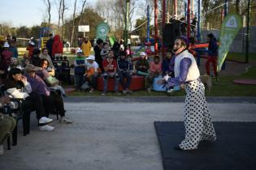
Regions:
<instances>
[{"instance_id":1,"label":"performer's wide white trousers with black polka dots","mask_svg":"<svg viewBox=\"0 0 256 170\"><path fill-rule=\"evenodd\" d=\"M197 149L200 141L216 140L209 108L206 103L205 87L195 80L185 84L187 93L184 110L185 138L179 147L184 150Z\"/></svg>"}]
</instances>

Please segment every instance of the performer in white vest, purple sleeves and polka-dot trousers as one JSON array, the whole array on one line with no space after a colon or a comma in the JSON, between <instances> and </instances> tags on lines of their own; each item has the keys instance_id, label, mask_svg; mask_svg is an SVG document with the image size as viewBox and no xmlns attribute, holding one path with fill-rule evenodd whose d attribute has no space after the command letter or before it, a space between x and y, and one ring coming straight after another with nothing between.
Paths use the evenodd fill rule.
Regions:
<instances>
[{"instance_id":1,"label":"performer in white vest, purple sleeves and polka-dot trousers","mask_svg":"<svg viewBox=\"0 0 256 170\"><path fill-rule=\"evenodd\" d=\"M186 91L184 108L185 138L176 150L197 149L199 142L204 140L215 141L215 128L211 121L209 108L205 97L205 87L199 79L200 72L193 55L188 51L189 41L184 37L175 40L173 51L175 53L175 78L168 75L163 77L167 87L181 85Z\"/></svg>"}]
</instances>

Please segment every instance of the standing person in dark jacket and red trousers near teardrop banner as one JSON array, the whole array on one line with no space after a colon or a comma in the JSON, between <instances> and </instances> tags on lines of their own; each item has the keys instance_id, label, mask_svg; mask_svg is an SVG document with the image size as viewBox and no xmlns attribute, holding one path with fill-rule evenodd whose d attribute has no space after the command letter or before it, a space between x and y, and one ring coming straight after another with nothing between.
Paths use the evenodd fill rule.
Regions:
<instances>
[{"instance_id":1,"label":"standing person in dark jacket and red trousers near teardrop banner","mask_svg":"<svg viewBox=\"0 0 256 170\"><path fill-rule=\"evenodd\" d=\"M206 62L206 73L210 75L210 63L213 66L213 70L215 73L215 77L218 76L217 73L217 58L218 58L218 44L215 36L210 33L207 35L208 38L208 57L207 57L207 62Z\"/></svg>"}]
</instances>

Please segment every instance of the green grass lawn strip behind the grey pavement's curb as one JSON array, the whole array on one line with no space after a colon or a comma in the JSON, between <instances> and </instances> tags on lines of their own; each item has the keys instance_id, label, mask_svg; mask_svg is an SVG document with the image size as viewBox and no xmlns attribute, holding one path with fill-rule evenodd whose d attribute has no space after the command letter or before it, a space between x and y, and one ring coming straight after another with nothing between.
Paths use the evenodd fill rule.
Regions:
<instances>
[{"instance_id":1,"label":"green grass lawn strip behind the grey pavement's curb","mask_svg":"<svg viewBox=\"0 0 256 170\"><path fill-rule=\"evenodd\" d=\"M250 67L249 70L239 76L223 76L213 84L211 91L206 91L206 96L256 96L256 85L243 85L233 83L234 79L256 79L256 66ZM85 91L73 91L68 96L100 96L102 91L94 91L93 94ZM165 91L151 91L145 90L133 91L129 96L184 96L185 91L175 91L168 94ZM117 96L114 92L107 92L106 96Z\"/></svg>"}]
</instances>

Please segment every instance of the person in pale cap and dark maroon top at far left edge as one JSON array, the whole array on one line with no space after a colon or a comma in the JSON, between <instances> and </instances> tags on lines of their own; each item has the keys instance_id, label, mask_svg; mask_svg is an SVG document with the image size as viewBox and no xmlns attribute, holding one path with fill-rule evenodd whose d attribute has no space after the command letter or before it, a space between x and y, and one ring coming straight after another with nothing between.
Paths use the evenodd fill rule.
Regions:
<instances>
[{"instance_id":1,"label":"person in pale cap and dark maroon top at far left edge","mask_svg":"<svg viewBox=\"0 0 256 170\"><path fill-rule=\"evenodd\" d=\"M0 62L0 70L2 70L1 78L6 79L7 78L7 69L11 64L11 57L13 56L13 53L9 50L10 45L6 42L3 45L4 49L1 54L1 62Z\"/></svg>"}]
</instances>

